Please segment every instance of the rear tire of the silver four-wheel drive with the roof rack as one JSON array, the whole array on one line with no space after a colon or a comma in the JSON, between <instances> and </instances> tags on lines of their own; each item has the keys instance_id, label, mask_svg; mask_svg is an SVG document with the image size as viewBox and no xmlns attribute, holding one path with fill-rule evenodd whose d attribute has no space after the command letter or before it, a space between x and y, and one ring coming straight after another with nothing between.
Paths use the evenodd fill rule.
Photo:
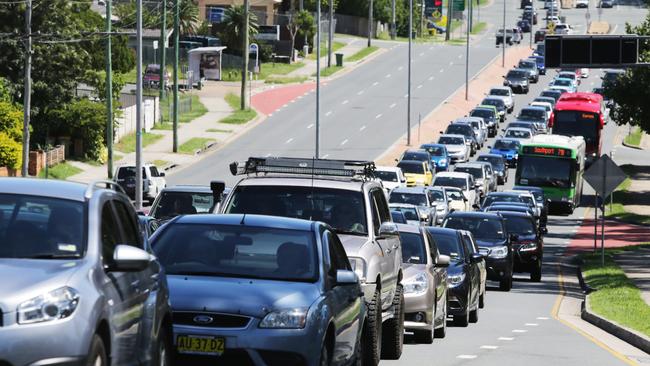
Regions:
<instances>
[{"instance_id":1,"label":"rear tire of the silver four-wheel drive with the roof rack","mask_svg":"<svg viewBox=\"0 0 650 366\"><path fill-rule=\"evenodd\" d=\"M381 358L399 360L404 346L404 291L397 285L393 297L393 317L382 324Z\"/></svg>"}]
</instances>

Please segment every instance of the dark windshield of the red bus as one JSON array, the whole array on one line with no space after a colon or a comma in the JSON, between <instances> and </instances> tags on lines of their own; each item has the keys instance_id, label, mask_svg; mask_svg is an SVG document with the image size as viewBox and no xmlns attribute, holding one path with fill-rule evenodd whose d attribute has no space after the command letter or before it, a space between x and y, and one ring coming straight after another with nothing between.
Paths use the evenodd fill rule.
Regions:
<instances>
[{"instance_id":1,"label":"dark windshield of the red bus","mask_svg":"<svg viewBox=\"0 0 650 366\"><path fill-rule=\"evenodd\" d=\"M583 136L589 146L598 144L600 116L593 112L556 111L553 133L565 136Z\"/></svg>"}]
</instances>

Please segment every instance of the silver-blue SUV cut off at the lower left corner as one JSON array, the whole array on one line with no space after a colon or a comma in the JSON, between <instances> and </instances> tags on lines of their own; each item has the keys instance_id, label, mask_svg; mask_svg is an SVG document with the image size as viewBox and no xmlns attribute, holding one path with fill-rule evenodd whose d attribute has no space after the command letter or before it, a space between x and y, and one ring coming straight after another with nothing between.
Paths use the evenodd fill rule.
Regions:
<instances>
[{"instance_id":1,"label":"silver-blue SUV cut off at the lower left corner","mask_svg":"<svg viewBox=\"0 0 650 366\"><path fill-rule=\"evenodd\" d=\"M0 179L0 365L169 364L163 270L100 184Z\"/></svg>"}]
</instances>

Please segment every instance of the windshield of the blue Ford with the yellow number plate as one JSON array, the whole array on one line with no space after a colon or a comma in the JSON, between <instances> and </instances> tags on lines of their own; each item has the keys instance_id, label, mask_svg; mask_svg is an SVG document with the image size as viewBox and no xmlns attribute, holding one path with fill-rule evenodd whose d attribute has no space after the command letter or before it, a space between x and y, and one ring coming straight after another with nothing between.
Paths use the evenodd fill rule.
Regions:
<instances>
[{"instance_id":1,"label":"windshield of the blue Ford with the yellow number plate","mask_svg":"<svg viewBox=\"0 0 650 366\"><path fill-rule=\"evenodd\" d=\"M311 231L172 224L160 232L152 247L168 275L304 282L318 278Z\"/></svg>"}]
</instances>

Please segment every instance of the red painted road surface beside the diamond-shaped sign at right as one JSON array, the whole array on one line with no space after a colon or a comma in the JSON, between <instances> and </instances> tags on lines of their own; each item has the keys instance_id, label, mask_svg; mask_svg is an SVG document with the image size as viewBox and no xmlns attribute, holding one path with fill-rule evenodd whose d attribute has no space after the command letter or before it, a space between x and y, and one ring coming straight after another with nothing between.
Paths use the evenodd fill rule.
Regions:
<instances>
[{"instance_id":1,"label":"red painted road surface beside the diamond-shaped sign at right","mask_svg":"<svg viewBox=\"0 0 650 366\"><path fill-rule=\"evenodd\" d=\"M596 242L600 249L601 221L598 220ZM605 220L605 248L619 248L650 242L650 227ZM594 220L585 219L567 247L568 254L594 250Z\"/></svg>"}]
</instances>

